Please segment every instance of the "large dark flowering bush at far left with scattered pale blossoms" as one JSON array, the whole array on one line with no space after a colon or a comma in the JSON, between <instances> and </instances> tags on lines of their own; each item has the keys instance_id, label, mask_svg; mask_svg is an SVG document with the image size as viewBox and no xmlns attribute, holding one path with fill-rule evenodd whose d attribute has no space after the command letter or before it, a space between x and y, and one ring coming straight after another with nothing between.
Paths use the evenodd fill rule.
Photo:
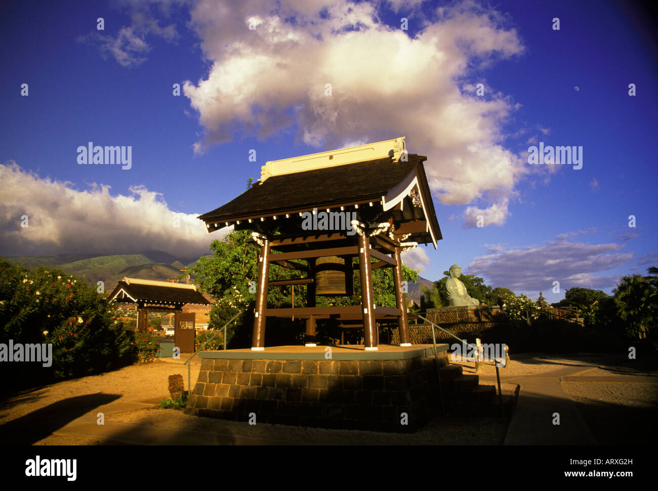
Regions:
<instances>
[{"instance_id":1,"label":"large dark flowering bush at far left with scattered pale blossoms","mask_svg":"<svg viewBox=\"0 0 658 491\"><path fill-rule=\"evenodd\" d=\"M116 315L95 286L57 269L26 269L0 260L2 342L53 345L52 366L22 363L20 371L11 375L17 386L133 363L137 356L133 336L116 321ZM10 365L1 363L0 373L7 373Z\"/></svg>"}]
</instances>

